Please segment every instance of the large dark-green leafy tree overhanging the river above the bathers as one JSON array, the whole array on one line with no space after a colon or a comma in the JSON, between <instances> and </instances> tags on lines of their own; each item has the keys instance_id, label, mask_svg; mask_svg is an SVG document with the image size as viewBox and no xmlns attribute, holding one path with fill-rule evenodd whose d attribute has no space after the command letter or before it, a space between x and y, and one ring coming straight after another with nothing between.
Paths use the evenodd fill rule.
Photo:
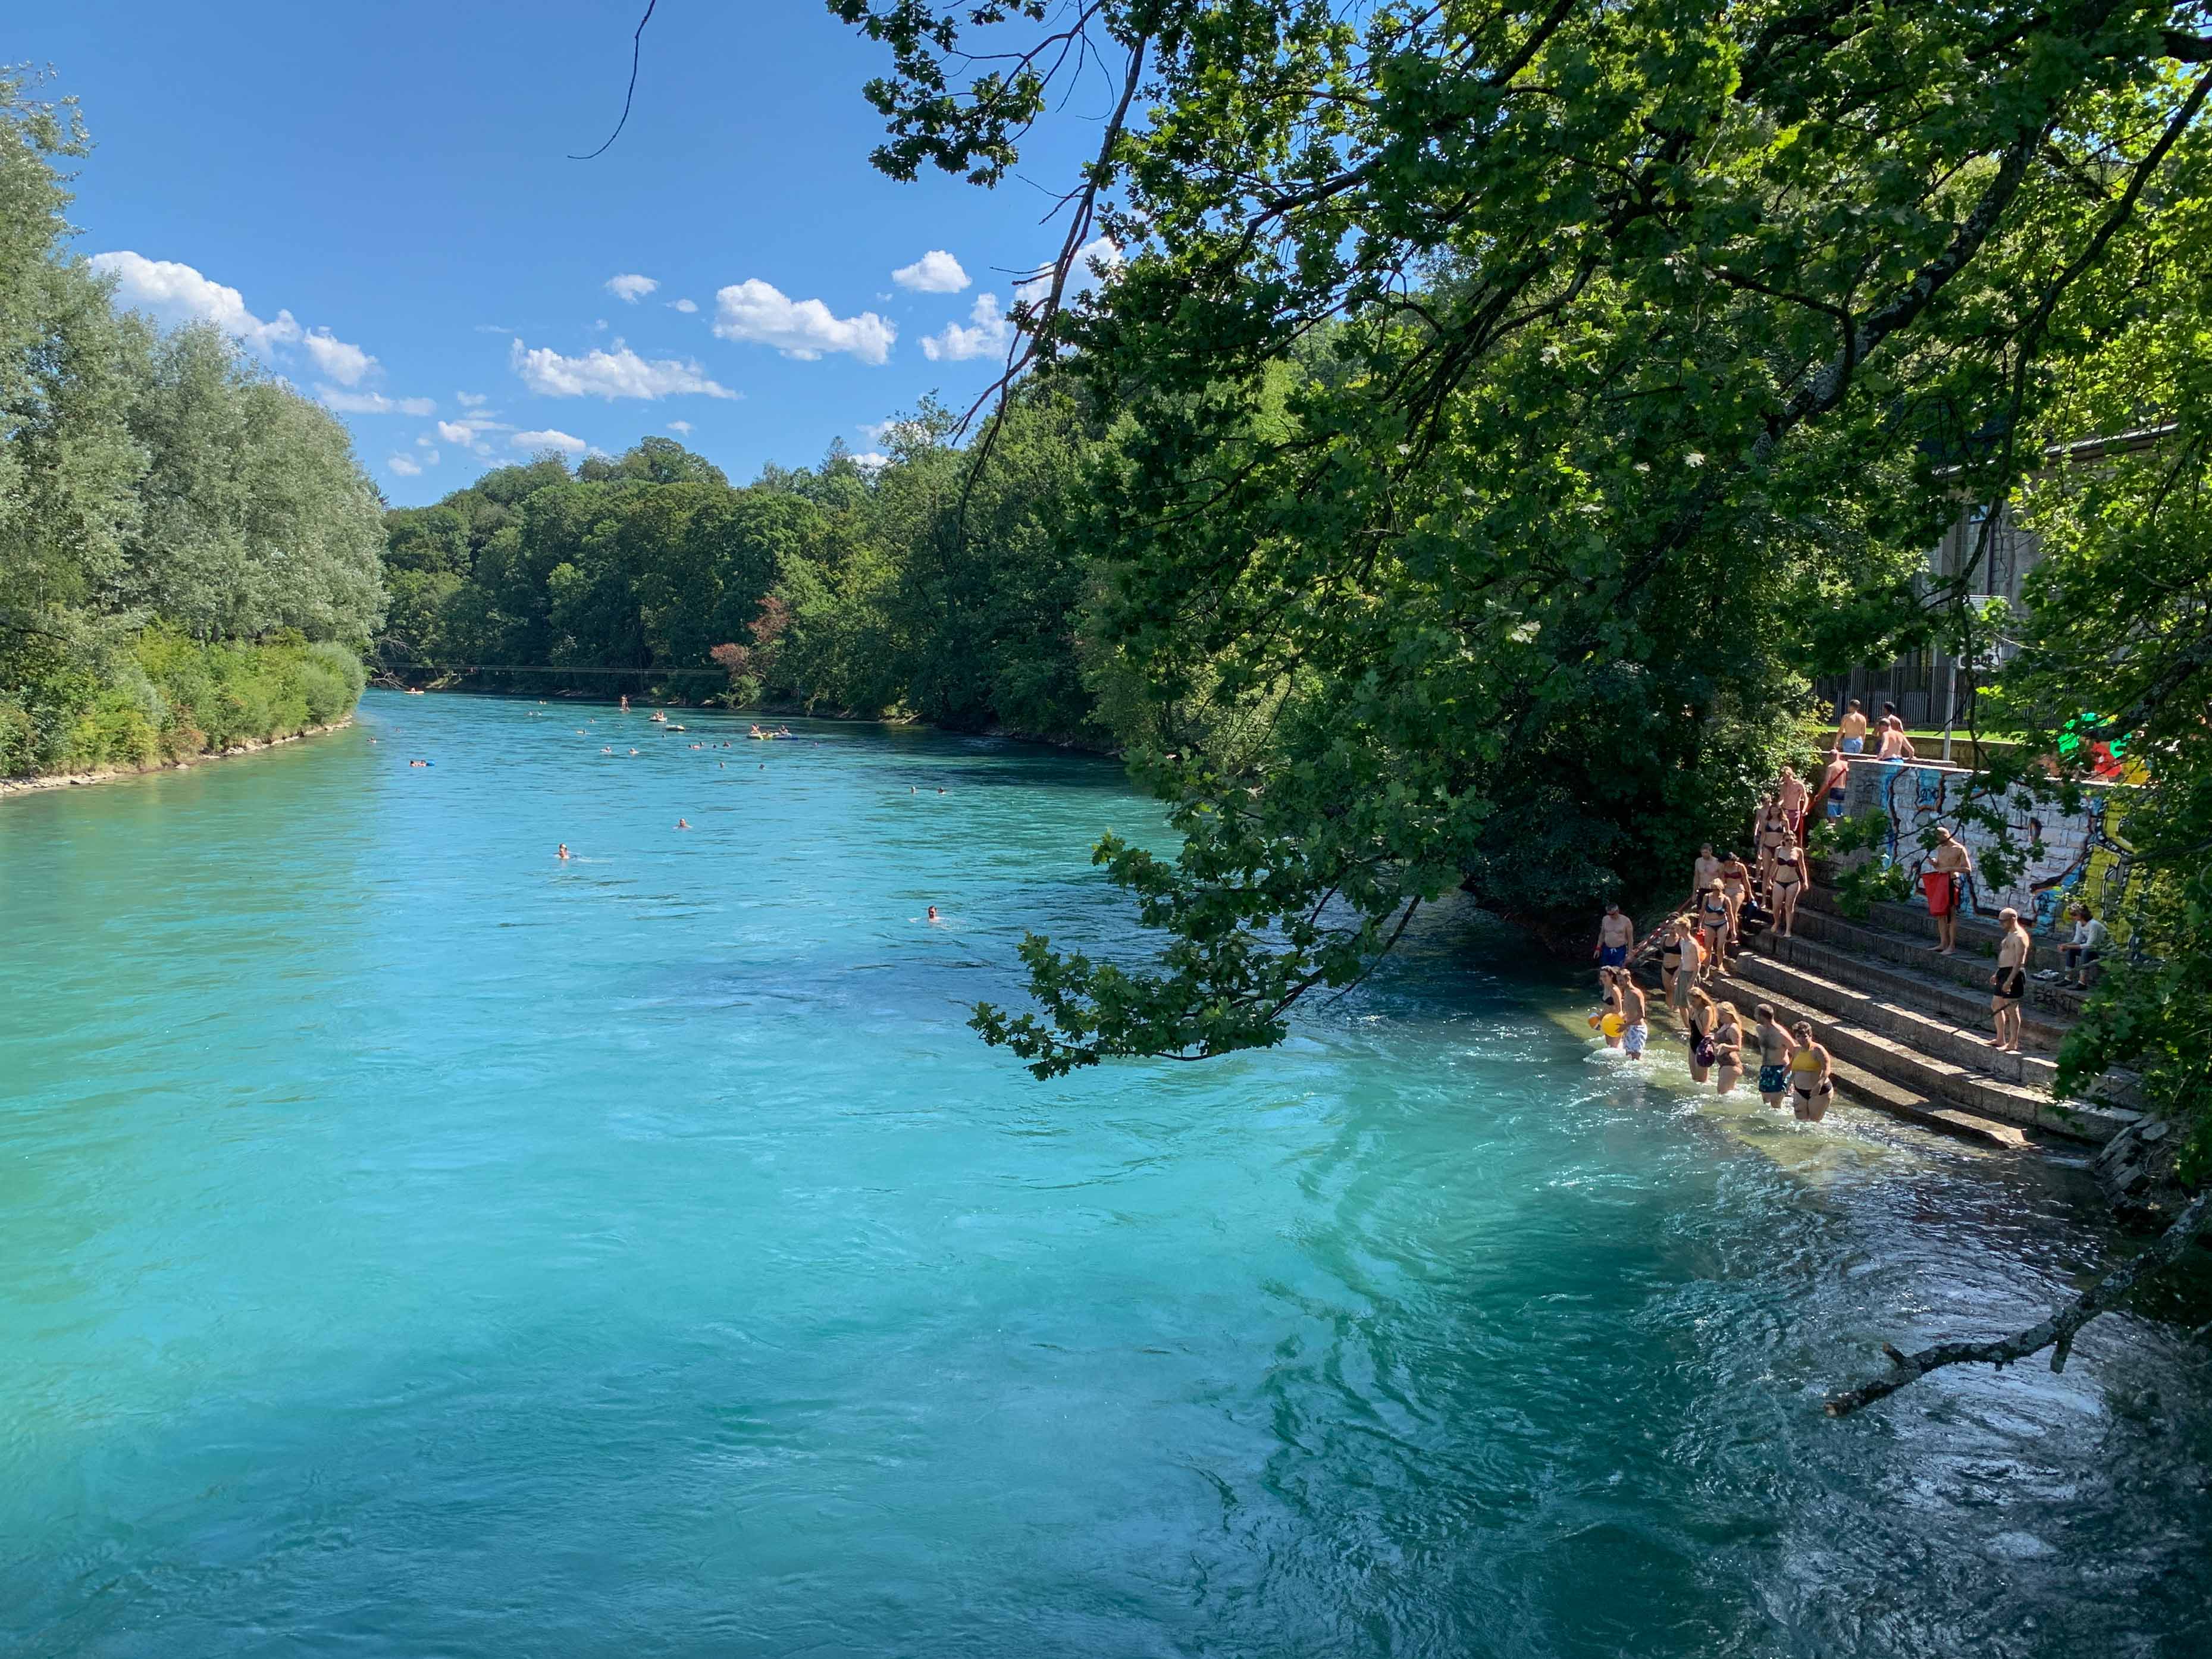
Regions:
<instances>
[{"instance_id":1,"label":"large dark-green leafy tree overhanging the river above the bathers","mask_svg":"<svg viewBox=\"0 0 2212 1659\"><path fill-rule=\"evenodd\" d=\"M1462 883L1661 887L1812 672L1962 633L1916 573L2022 476L2212 58L2115 0L832 9L894 175L1000 177L1055 62L1126 88L1055 294L1093 219L1128 259L1022 323L1119 422L1097 648L1208 719L1137 752L1179 856L1099 849L1157 960L1033 938L1040 1009L980 1011L1044 1075L1274 1042Z\"/></svg>"}]
</instances>

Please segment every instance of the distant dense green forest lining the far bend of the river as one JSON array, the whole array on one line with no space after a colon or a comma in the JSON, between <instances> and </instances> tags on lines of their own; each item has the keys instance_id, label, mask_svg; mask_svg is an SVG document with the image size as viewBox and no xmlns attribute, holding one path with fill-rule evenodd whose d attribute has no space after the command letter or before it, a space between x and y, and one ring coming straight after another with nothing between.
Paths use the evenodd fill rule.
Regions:
<instances>
[{"instance_id":1,"label":"distant dense green forest lining the far bend of the river","mask_svg":"<svg viewBox=\"0 0 2212 1659\"><path fill-rule=\"evenodd\" d=\"M971 489L953 422L894 422L732 489L666 438L487 473L385 515L394 668L723 668L732 701L1102 739L1079 646L1093 562L1064 531L1099 434L1026 392ZM712 681L670 679L697 695Z\"/></svg>"}]
</instances>

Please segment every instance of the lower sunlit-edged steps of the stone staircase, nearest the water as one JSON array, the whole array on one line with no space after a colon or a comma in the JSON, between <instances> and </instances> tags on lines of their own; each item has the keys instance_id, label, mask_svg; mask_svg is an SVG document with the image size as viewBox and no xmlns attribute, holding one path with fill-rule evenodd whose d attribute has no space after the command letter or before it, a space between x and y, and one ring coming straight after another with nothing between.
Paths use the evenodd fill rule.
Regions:
<instances>
[{"instance_id":1,"label":"lower sunlit-edged steps of the stone staircase, nearest the water","mask_svg":"<svg viewBox=\"0 0 2212 1659\"><path fill-rule=\"evenodd\" d=\"M1745 1015L1754 1004L1772 1002L1785 1022L1805 1020L1836 1060L1920 1095L1933 1110L1955 1108L1993 1124L2046 1130L2077 1141L2108 1141L2139 1117L2139 1113L2095 1102L2062 1104L2046 1088L1993 1077L1986 1071L1947 1060L1942 1053L1924 1053L1916 1044L1927 1042L1931 1048L1955 1051L1960 1033L1955 1029L1940 1033L1940 1022L1927 1015L1885 1006L1876 998L1818 980L1818 975L1767 956L1745 953L1734 973L1717 975L1712 984L1717 995L1732 1000ZM1790 989L1783 989L1785 984ZM1812 995L1836 1006L1820 1006L1820 1002L1809 1000ZM1838 1009L1849 1009L1849 1013ZM1860 1024L1860 1020L1876 1024ZM1887 1035L1880 1024L1905 1033L1905 1040ZM2002 1060L1995 1051L1984 1048L1984 1053Z\"/></svg>"}]
</instances>

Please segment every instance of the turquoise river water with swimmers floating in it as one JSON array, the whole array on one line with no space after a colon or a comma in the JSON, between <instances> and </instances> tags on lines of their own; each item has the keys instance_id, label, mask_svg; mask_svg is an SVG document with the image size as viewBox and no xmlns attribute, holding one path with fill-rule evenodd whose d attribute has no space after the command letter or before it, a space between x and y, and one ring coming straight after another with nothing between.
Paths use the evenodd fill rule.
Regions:
<instances>
[{"instance_id":1,"label":"turquoise river water with swimmers floating in it","mask_svg":"<svg viewBox=\"0 0 2212 1659\"><path fill-rule=\"evenodd\" d=\"M686 723L0 803L0 1650L2205 1650L2174 1327L1820 1413L2081 1283L2079 1172L1628 1077L1467 916L1035 1084L964 1004L1126 940L1119 772Z\"/></svg>"}]
</instances>

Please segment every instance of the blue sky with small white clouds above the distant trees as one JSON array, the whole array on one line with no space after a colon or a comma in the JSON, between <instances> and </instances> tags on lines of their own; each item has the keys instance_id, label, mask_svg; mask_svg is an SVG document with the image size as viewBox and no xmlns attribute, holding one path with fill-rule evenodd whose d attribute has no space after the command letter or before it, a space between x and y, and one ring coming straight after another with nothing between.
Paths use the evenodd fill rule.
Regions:
<instances>
[{"instance_id":1,"label":"blue sky with small white clouds above the distant trees","mask_svg":"<svg viewBox=\"0 0 2212 1659\"><path fill-rule=\"evenodd\" d=\"M641 4L84 0L15 15L9 58L91 128L77 250L338 409L396 504L670 429L743 482L865 453L925 392L964 407L1046 197L880 177L885 53L818 0L659 0L628 128L571 161Z\"/></svg>"}]
</instances>

